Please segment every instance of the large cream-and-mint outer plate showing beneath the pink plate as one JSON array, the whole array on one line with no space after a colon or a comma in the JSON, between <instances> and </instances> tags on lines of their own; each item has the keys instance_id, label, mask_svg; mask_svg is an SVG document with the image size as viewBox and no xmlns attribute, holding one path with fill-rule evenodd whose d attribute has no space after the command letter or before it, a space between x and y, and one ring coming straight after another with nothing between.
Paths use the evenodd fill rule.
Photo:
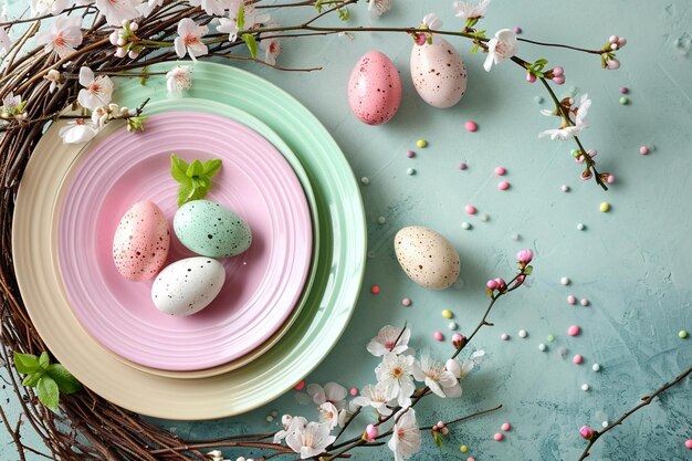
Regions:
<instances>
[{"instance_id":1,"label":"large cream-and-mint outer plate showing beneath the pink plate","mask_svg":"<svg viewBox=\"0 0 692 461\"><path fill-rule=\"evenodd\" d=\"M167 72L175 64L153 65L149 71ZM167 98L160 75L145 86L138 78L118 78L116 86L114 101L128 107L147 97ZM57 130L63 122L45 133L29 161L17 199L12 247L22 297L36 329L86 387L143 415L199 420L260 407L291 389L326 357L346 328L360 291L366 229L348 163L324 126L292 96L248 72L210 63L195 64L188 96L234 107L269 126L300 159L314 191L318 223L313 230L319 235L314 282L293 326L270 350L228 373L180 379L122 363L82 329L51 251L61 179L82 150L61 143ZM114 129L124 128L113 124L104 135Z\"/></svg>"}]
</instances>

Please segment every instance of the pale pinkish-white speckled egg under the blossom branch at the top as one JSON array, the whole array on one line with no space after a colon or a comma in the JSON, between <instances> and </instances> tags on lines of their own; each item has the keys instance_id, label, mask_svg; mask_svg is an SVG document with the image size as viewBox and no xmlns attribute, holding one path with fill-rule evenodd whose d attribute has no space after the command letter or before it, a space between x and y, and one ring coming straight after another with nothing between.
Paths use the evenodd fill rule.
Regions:
<instances>
[{"instance_id":1,"label":"pale pinkish-white speckled egg under the blossom branch at the top","mask_svg":"<svg viewBox=\"0 0 692 461\"><path fill-rule=\"evenodd\" d=\"M454 48L436 35L431 44L413 45L411 78L420 97L433 107L447 108L466 91L466 67Z\"/></svg>"}]
</instances>

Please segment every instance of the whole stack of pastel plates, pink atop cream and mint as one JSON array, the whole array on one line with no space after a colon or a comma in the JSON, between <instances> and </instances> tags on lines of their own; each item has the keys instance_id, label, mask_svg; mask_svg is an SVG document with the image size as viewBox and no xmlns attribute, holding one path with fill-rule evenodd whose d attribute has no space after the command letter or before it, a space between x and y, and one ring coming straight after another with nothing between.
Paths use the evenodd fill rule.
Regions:
<instances>
[{"instance_id":1,"label":"whole stack of pastel plates, pink atop cream and mint","mask_svg":"<svg viewBox=\"0 0 692 461\"><path fill-rule=\"evenodd\" d=\"M133 411L191 420L256 408L317 366L350 318L365 261L357 184L317 119L252 74L196 63L179 99L161 76L117 84L122 105L151 98L145 133L113 123L80 148L52 126L28 165L13 228L27 310L63 365ZM133 203L151 200L172 221L171 153L222 158L208 198L253 231L245 253L221 261L219 297L188 317L158 312L151 282L123 279L112 259ZM172 237L168 262L191 255Z\"/></svg>"}]
</instances>

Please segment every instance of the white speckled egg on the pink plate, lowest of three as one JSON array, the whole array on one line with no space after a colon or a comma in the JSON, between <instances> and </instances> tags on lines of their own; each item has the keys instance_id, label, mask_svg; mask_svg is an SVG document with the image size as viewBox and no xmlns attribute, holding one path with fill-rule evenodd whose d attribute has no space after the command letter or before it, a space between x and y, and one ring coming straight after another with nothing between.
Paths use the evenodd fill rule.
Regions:
<instances>
[{"instance_id":1,"label":"white speckled egg on the pink plate, lowest of three","mask_svg":"<svg viewBox=\"0 0 692 461\"><path fill-rule=\"evenodd\" d=\"M151 301L164 314L192 315L211 304L224 281L226 270L219 261L188 258L158 274L151 285Z\"/></svg>"}]
</instances>

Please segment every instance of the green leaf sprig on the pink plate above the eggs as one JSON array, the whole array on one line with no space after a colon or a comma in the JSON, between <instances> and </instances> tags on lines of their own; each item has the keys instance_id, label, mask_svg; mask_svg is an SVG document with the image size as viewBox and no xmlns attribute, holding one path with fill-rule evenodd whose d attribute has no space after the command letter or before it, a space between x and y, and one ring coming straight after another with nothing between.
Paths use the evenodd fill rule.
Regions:
<instances>
[{"instance_id":1,"label":"green leaf sprig on the pink plate above the eggs","mask_svg":"<svg viewBox=\"0 0 692 461\"><path fill-rule=\"evenodd\" d=\"M188 201L200 200L211 189L211 178L221 169L221 160L213 158L203 164L195 160L191 164L170 155L170 176L178 181L178 207Z\"/></svg>"}]
</instances>

